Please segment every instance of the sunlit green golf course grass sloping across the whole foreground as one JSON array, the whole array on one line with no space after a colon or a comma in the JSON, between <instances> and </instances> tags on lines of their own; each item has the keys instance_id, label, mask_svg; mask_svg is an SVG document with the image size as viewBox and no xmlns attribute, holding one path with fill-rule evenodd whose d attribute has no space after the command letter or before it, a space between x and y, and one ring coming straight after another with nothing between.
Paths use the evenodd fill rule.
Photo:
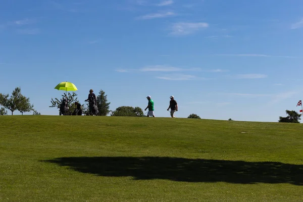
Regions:
<instances>
[{"instance_id":1,"label":"sunlit green golf course grass sloping across the whole foreground","mask_svg":"<svg viewBox=\"0 0 303 202\"><path fill-rule=\"evenodd\" d=\"M289 123L1 116L0 201L302 201L302 131Z\"/></svg>"}]
</instances>

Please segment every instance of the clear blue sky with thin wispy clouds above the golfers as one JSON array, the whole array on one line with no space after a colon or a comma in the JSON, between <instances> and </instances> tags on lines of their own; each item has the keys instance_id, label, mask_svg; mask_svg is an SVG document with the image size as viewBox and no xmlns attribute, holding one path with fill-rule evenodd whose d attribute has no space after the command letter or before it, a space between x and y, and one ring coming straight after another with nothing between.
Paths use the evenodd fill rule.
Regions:
<instances>
[{"instance_id":1,"label":"clear blue sky with thin wispy clouds above the golfers","mask_svg":"<svg viewBox=\"0 0 303 202\"><path fill-rule=\"evenodd\" d=\"M277 122L299 112L303 82L303 1L3 0L0 92L20 86L35 109L73 82L83 104L103 89L111 110ZM16 113L18 114L18 113ZM31 114L31 113L27 113Z\"/></svg>"}]
</instances>

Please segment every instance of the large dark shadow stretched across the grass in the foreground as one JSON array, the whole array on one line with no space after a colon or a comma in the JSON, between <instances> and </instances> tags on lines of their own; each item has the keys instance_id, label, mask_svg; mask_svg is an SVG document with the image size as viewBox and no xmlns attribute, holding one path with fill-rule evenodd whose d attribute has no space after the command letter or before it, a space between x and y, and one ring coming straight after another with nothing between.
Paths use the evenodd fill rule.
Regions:
<instances>
[{"instance_id":1,"label":"large dark shadow stretched across the grass in the foreground","mask_svg":"<svg viewBox=\"0 0 303 202\"><path fill-rule=\"evenodd\" d=\"M65 157L43 162L98 176L132 176L136 180L240 184L303 185L303 165L278 162L220 161L170 157Z\"/></svg>"}]
</instances>

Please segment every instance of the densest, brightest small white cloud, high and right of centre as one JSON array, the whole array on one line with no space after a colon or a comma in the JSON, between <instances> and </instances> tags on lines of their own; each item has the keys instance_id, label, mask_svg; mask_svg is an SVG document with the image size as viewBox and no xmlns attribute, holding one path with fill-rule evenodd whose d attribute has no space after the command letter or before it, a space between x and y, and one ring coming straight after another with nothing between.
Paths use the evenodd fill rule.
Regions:
<instances>
[{"instance_id":1,"label":"densest, brightest small white cloud, high and right of centre","mask_svg":"<svg viewBox=\"0 0 303 202\"><path fill-rule=\"evenodd\" d=\"M187 35L192 34L200 29L209 27L208 23L205 22L198 22L198 23L174 23L172 25L172 32L173 35Z\"/></svg>"}]
</instances>

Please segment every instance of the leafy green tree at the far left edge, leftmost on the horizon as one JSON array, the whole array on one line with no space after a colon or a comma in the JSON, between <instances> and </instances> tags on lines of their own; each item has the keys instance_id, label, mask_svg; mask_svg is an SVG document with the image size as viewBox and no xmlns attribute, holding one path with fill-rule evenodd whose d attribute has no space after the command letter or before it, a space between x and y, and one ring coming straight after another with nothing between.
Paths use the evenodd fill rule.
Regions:
<instances>
[{"instance_id":1,"label":"leafy green tree at the far left edge, leftmost on the horizon","mask_svg":"<svg viewBox=\"0 0 303 202\"><path fill-rule=\"evenodd\" d=\"M0 105L2 105L4 108L10 110L12 112L12 115L14 114L14 111L17 110L17 106L20 103L21 98L21 88L16 87L13 91L11 97L9 98L9 94L2 94L0 93Z\"/></svg>"}]
</instances>

